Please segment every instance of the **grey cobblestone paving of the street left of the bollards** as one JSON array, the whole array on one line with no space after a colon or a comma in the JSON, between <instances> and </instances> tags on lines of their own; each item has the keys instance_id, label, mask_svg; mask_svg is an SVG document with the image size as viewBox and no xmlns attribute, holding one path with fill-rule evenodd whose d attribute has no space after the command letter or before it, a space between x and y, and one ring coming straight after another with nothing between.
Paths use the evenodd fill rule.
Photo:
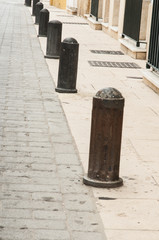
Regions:
<instances>
[{"instance_id":1,"label":"grey cobblestone paving of the street left of the bollards","mask_svg":"<svg viewBox=\"0 0 159 240\"><path fill-rule=\"evenodd\" d=\"M0 0L0 240L103 240L22 0Z\"/></svg>"}]
</instances>

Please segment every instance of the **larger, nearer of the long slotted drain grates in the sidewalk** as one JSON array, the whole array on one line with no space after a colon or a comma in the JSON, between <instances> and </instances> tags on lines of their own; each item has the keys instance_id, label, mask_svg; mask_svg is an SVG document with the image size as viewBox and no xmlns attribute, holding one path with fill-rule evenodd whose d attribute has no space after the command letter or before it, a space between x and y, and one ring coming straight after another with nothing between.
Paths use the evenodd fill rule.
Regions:
<instances>
[{"instance_id":1,"label":"larger, nearer of the long slotted drain grates in the sidewalk","mask_svg":"<svg viewBox=\"0 0 159 240\"><path fill-rule=\"evenodd\" d=\"M141 68L132 62L105 62L105 61L88 61L92 67L110 67L110 68Z\"/></svg>"}]
</instances>

